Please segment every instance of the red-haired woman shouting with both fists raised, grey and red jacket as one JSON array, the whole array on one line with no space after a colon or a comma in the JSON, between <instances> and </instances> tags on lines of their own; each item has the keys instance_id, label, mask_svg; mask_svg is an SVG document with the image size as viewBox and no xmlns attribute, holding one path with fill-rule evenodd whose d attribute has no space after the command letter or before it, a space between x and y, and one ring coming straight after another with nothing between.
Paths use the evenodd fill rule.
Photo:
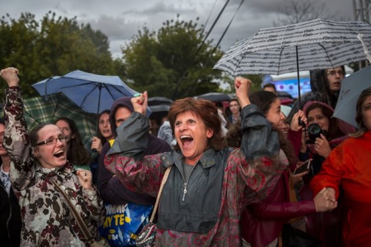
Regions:
<instances>
[{"instance_id":1,"label":"red-haired woman shouting with both fists raised, grey and red jacket","mask_svg":"<svg viewBox=\"0 0 371 247\"><path fill-rule=\"evenodd\" d=\"M244 206L266 198L285 165L279 159L278 134L263 113L250 104L251 81L236 78L242 107L240 149L225 148L221 120L207 100L180 99L168 117L175 150L143 156L148 137L146 92L132 99L135 112L120 127L105 166L128 188L160 197L156 246L240 246Z\"/></svg>"}]
</instances>

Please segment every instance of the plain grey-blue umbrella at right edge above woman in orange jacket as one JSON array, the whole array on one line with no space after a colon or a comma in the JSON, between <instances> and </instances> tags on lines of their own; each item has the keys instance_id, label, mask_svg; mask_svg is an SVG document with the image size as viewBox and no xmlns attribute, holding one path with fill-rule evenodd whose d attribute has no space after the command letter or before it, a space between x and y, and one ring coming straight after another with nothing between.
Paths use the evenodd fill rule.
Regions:
<instances>
[{"instance_id":1,"label":"plain grey-blue umbrella at right edge above woman in orange jacket","mask_svg":"<svg viewBox=\"0 0 371 247\"><path fill-rule=\"evenodd\" d=\"M371 87L371 66L345 78L341 82L333 117L357 127L355 120L357 100L361 92L368 87Z\"/></svg>"}]
</instances>

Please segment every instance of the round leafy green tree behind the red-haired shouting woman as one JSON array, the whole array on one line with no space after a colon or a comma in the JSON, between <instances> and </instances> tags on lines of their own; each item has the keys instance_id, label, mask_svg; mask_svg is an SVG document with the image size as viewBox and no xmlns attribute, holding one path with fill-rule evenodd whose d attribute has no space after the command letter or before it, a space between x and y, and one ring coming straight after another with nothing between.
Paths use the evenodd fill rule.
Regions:
<instances>
[{"instance_id":1,"label":"round leafy green tree behind the red-haired shouting woman","mask_svg":"<svg viewBox=\"0 0 371 247\"><path fill-rule=\"evenodd\" d=\"M138 91L172 99L220 91L221 72L212 67L222 51L210 40L201 46L204 37L192 21L167 20L157 32L144 26L123 49L127 79Z\"/></svg>"}]
</instances>

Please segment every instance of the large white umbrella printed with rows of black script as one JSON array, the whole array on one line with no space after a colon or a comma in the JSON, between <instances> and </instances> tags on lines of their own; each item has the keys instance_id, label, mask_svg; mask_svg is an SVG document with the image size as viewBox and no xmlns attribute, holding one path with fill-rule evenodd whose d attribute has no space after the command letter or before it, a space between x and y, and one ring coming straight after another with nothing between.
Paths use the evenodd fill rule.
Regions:
<instances>
[{"instance_id":1,"label":"large white umbrella printed with rows of black script","mask_svg":"<svg viewBox=\"0 0 371 247\"><path fill-rule=\"evenodd\" d=\"M336 68L365 60L358 34L364 35L363 41L371 49L371 25L367 22L316 19L263 28L236 42L214 69L237 76Z\"/></svg>"}]
</instances>

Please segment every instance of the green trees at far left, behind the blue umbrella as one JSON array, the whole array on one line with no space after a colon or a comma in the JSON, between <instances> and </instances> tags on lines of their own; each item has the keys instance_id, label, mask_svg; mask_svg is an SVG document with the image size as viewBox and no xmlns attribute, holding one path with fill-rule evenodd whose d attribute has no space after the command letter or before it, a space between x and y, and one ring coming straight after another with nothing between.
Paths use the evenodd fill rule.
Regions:
<instances>
[{"instance_id":1,"label":"green trees at far left, behind the blue umbrella","mask_svg":"<svg viewBox=\"0 0 371 247\"><path fill-rule=\"evenodd\" d=\"M0 37L0 68L19 69L24 97L38 95L31 84L74 70L123 74L122 62L111 58L108 38L89 24L79 25L76 17L57 17L50 11L40 21L31 13L22 13L18 20L2 16ZM0 87L6 87L3 80Z\"/></svg>"}]
</instances>

